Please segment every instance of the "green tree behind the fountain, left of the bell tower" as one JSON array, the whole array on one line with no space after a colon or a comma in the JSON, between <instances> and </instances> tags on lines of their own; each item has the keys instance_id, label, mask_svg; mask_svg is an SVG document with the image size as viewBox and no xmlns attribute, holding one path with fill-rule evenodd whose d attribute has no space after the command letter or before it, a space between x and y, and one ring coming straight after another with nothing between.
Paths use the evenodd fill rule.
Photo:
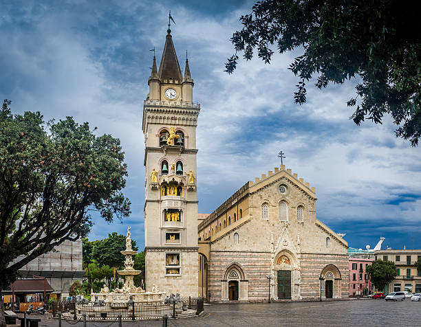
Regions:
<instances>
[{"instance_id":1,"label":"green tree behind the fountain, left of the bell tower","mask_svg":"<svg viewBox=\"0 0 421 327\"><path fill-rule=\"evenodd\" d=\"M136 240L131 240L131 248L135 251ZM108 234L107 238L97 240L92 247L91 258L102 266L107 264L109 267L123 268L125 265L125 256L120 252L126 249L126 236L113 232Z\"/></svg>"}]
</instances>

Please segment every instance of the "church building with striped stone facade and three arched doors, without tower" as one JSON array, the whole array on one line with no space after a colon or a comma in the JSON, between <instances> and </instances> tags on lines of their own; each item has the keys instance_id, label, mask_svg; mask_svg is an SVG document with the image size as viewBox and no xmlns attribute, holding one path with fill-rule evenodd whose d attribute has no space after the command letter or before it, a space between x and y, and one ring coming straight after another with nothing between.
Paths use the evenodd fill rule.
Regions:
<instances>
[{"instance_id":1,"label":"church building with striped stone facade and three arched doors, without tower","mask_svg":"<svg viewBox=\"0 0 421 327\"><path fill-rule=\"evenodd\" d=\"M274 300L349 295L347 242L316 219L315 189L285 166L246 183L198 232L210 301L268 300L268 276Z\"/></svg>"}]
</instances>

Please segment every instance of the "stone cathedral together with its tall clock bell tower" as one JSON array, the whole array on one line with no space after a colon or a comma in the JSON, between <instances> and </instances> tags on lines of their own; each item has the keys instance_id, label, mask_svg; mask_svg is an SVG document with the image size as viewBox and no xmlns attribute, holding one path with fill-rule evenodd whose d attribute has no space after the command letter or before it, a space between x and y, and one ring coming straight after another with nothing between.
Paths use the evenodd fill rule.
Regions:
<instances>
[{"instance_id":1,"label":"stone cathedral together with its tall clock bell tower","mask_svg":"<svg viewBox=\"0 0 421 327\"><path fill-rule=\"evenodd\" d=\"M210 301L349 295L347 242L316 218L316 191L285 166L249 181L215 212L197 214L196 127L188 60L171 30L144 101L147 291Z\"/></svg>"}]
</instances>

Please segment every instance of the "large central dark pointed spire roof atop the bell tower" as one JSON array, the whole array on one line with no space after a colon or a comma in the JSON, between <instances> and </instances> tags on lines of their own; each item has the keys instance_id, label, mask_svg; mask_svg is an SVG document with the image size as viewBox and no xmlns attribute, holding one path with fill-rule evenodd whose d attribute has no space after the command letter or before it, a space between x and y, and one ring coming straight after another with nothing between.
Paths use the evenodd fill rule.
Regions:
<instances>
[{"instance_id":1,"label":"large central dark pointed spire roof atop the bell tower","mask_svg":"<svg viewBox=\"0 0 421 327\"><path fill-rule=\"evenodd\" d=\"M164 45L164 52L162 52L162 58L160 63L160 71L158 76L161 80L178 80L182 82L182 72L178 63L177 54L175 54L175 48L173 45L173 39L170 34L166 34L166 40Z\"/></svg>"}]
</instances>

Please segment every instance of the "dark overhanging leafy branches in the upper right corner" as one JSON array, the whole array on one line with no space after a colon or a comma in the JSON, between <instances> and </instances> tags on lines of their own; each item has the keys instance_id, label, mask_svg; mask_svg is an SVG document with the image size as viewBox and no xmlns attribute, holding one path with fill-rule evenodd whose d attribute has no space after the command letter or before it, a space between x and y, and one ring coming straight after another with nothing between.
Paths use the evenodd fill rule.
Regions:
<instances>
[{"instance_id":1,"label":"dark overhanging leafy branches in the upper right corner","mask_svg":"<svg viewBox=\"0 0 421 327\"><path fill-rule=\"evenodd\" d=\"M276 45L283 52L301 49L290 69L299 76L296 103L306 102L305 83L316 87L343 84L359 76L352 119L382 123L390 114L396 137L418 145L421 136L421 25L418 12L397 0L262 0L240 17L242 30L230 39L235 54L226 71L233 73L238 52L270 63Z\"/></svg>"}]
</instances>

